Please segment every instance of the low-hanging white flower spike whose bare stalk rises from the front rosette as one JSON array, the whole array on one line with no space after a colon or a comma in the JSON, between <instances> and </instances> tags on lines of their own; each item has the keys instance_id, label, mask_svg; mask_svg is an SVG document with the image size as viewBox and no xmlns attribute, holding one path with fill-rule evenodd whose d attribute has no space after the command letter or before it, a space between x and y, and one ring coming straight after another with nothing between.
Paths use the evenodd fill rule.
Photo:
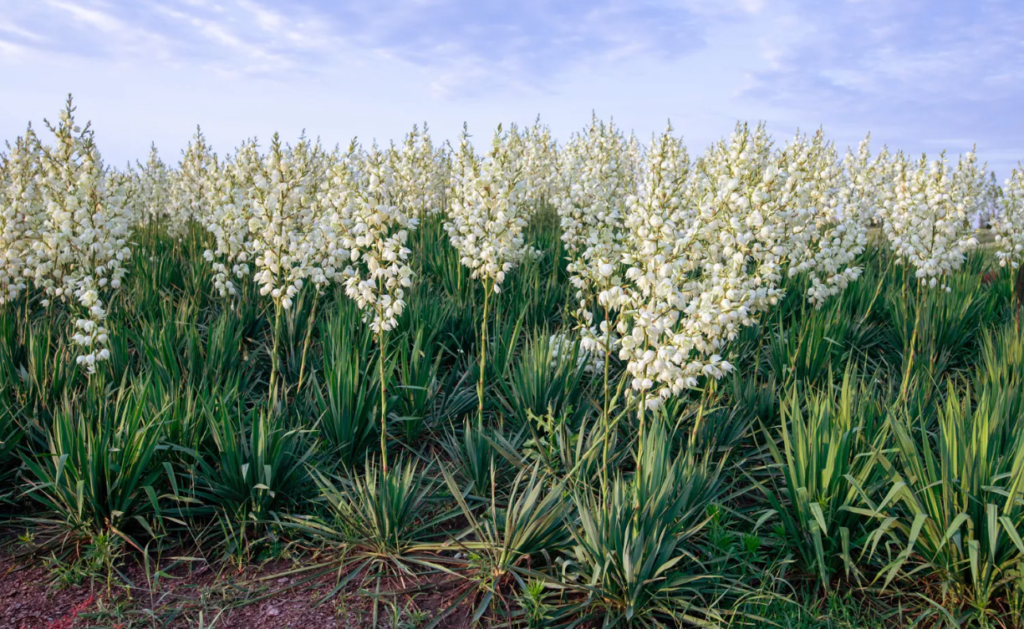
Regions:
<instances>
[{"instance_id":1,"label":"low-hanging white flower spike whose bare stalk rises from the front rosette","mask_svg":"<svg viewBox=\"0 0 1024 629\"><path fill-rule=\"evenodd\" d=\"M362 152L353 142L334 172L333 220L349 252L345 294L377 335L398 325L413 281L406 244L419 221L398 203L395 162L376 144Z\"/></svg>"}]
</instances>

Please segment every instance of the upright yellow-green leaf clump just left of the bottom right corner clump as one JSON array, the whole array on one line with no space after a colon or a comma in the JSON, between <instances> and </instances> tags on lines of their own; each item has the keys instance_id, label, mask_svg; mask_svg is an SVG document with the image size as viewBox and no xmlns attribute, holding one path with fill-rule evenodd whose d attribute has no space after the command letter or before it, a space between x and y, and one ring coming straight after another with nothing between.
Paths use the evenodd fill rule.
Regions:
<instances>
[{"instance_id":1,"label":"upright yellow-green leaf clump just left of the bottom right corner clump","mask_svg":"<svg viewBox=\"0 0 1024 629\"><path fill-rule=\"evenodd\" d=\"M830 382L821 392L793 385L777 429L761 426L771 475L751 477L769 505L758 523L777 518L798 568L826 592L841 570L862 578L867 520L851 507L884 483L873 454L884 447L882 417L873 388L848 369L838 392Z\"/></svg>"}]
</instances>

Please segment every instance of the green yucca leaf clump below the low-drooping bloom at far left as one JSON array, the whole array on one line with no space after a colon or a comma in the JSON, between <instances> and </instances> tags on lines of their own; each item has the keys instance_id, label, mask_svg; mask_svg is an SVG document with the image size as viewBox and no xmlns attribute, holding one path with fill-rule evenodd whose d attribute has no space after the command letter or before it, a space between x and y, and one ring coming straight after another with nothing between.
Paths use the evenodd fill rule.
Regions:
<instances>
[{"instance_id":1,"label":"green yucca leaf clump below the low-drooping bloom at far left","mask_svg":"<svg viewBox=\"0 0 1024 629\"><path fill-rule=\"evenodd\" d=\"M166 447L145 388L141 381L111 399L67 399L55 412L45 450L25 460L25 493L43 509L31 521L47 531L44 545L113 534L140 549L136 533L154 534Z\"/></svg>"}]
</instances>

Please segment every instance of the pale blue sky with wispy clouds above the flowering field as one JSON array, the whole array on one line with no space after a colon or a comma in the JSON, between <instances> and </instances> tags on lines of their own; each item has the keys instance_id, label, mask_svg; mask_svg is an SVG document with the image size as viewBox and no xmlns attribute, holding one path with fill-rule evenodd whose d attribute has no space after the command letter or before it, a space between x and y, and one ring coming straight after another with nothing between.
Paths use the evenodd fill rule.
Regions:
<instances>
[{"instance_id":1,"label":"pale blue sky with wispy clouds above the flowering field","mask_svg":"<svg viewBox=\"0 0 1024 629\"><path fill-rule=\"evenodd\" d=\"M691 153L736 120L1024 159L1022 0L0 0L0 135L75 94L106 160L302 129L480 138L592 110Z\"/></svg>"}]
</instances>

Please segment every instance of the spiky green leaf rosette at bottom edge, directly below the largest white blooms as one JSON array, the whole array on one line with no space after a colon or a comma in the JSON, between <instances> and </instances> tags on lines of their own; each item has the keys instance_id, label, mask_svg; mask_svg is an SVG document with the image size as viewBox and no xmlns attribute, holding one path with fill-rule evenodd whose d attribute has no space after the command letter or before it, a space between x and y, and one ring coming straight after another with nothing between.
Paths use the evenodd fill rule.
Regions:
<instances>
[{"instance_id":1,"label":"spiky green leaf rosette at bottom edge, directly below the largest white blooms","mask_svg":"<svg viewBox=\"0 0 1024 629\"><path fill-rule=\"evenodd\" d=\"M673 459L664 427L646 435L643 475L615 476L602 493L573 493L580 517L565 562L582 599L563 610L575 624L680 626L721 620L715 601L723 575L693 544L707 523L703 507L719 492L721 463L695 453Z\"/></svg>"}]
</instances>

